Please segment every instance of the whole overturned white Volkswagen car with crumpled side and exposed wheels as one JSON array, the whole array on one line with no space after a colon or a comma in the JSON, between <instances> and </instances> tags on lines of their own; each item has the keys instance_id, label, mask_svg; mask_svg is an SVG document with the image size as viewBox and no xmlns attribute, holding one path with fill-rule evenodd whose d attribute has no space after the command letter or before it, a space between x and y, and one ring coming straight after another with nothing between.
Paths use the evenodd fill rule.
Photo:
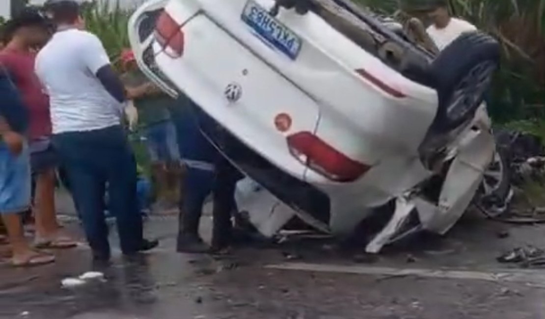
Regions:
<instances>
[{"instance_id":1,"label":"whole overturned white Volkswagen car with crumpled side and exposed wheels","mask_svg":"<svg viewBox=\"0 0 545 319\"><path fill-rule=\"evenodd\" d=\"M150 0L129 33L147 75L225 128L204 133L274 195L251 212L269 235L292 213L338 235L387 214L374 253L444 234L473 201L505 209L482 103L500 53L486 34L434 54L348 0ZM222 148L222 134L243 143Z\"/></svg>"}]
</instances>

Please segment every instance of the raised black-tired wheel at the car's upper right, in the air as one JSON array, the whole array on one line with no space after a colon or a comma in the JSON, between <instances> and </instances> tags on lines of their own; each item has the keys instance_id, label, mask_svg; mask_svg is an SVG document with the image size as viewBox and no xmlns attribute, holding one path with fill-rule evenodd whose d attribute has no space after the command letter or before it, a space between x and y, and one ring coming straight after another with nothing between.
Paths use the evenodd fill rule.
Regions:
<instances>
[{"instance_id":1,"label":"raised black-tired wheel at the car's upper right, in the air","mask_svg":"<svg viewBox=\"0 0 545 319\"><path fill-rule=\"evenodd\" d=\"M499 60L498 41L481 32L462 34L437 56L431 65L439 97L435 132L451 131L473 118Z\"/></svg>"}]
</instances>

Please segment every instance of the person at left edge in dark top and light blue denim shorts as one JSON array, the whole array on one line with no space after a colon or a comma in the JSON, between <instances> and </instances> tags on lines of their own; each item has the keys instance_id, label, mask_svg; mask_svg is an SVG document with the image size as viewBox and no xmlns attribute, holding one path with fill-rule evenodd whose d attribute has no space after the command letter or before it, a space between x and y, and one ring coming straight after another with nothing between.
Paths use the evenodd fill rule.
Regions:
<instances>
[{"instance_id":1,"label":"person at left edge in dark top and light blue denim shorts","mask_svg":"<svg viewBox=\"0 0 545 319\"><path fill-rule=\"evenodd\" d=\"M0 216L8 231L13 266L43 265L54 256L33 250L25 239L21 213L31 204L31 170L25 132L28 114L0 65Z\"/></svg>"}]
</instances>

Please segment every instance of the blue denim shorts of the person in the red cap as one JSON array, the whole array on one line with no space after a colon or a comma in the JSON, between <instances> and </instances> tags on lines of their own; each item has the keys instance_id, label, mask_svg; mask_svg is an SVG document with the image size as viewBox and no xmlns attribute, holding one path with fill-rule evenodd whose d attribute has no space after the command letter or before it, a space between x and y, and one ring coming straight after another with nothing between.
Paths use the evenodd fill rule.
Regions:
<instances>
[{"instance_id":1,"label":"blue denim shorts of the person in the red cap","mask_svg":"<svg viewBox=\"0 0 545 319\"><path fill-rule=\"evenodd\" d=\"M152 162L177 162L180 160L176 128L172 121L149 125L144 132Z\"/></svg>"}]
</instances>

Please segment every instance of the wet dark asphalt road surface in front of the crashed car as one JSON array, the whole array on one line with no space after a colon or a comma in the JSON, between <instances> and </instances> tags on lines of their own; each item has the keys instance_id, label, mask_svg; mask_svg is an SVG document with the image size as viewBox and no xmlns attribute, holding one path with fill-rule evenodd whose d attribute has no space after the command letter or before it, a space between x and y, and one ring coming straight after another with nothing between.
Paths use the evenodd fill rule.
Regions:
<instances>
[{"instance_id":1,"label":"wet dark asphalt road surface in front of the crashed car","mask_svg":"<svg viewBox=\"0 0 545 319\"><path fill-rule=\"evenodd\" d=\"M203 218L208 233L209 217ZM81 236L73 218L66 229ZM159 249L96 265L88 247L58 251L54 265L0 266L0 318L543 318L545 272L496 262L523 244L545 247L544 226L464 218L446 238L420 238L370 259L331 240L294 237L232 256L174 253L175 217L152 217ZM502 231L508 230L505 237ZM116 247L115 234L112 234ZM63 288L100 271L104 281Z\"/></svg>"}]
</instances>

